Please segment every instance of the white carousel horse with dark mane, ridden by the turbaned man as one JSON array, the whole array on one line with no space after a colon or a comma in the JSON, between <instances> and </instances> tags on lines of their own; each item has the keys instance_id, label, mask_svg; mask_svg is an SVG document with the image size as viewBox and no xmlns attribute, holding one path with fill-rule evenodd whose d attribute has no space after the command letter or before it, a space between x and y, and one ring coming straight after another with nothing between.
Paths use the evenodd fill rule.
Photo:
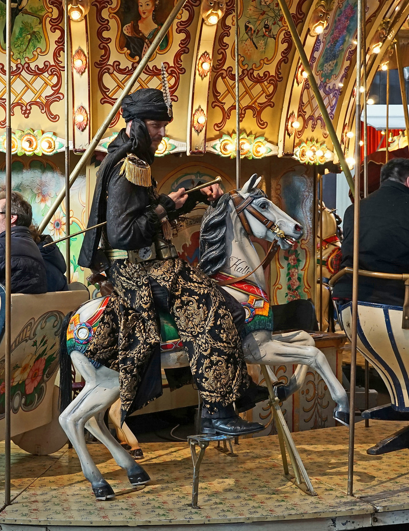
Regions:
<instances>
[{"instance_id":1,"label":"white carousel horse with dark mane, ridden by the turbaned man","mask_svg":"<svg viewBox=\"0 0 409 531\"><path fill-rule=\"evenodd\" d=\"M251 244L249 232L269 242L278 242L289 249L302 236L298 223L277 208L257 188L260 178L253 175L239 192L224 194L216 207L209 207L201 228L202 269L216 279L229 280L249 272L246 282L226 286L245 307L247 334L242 340L246 362L257 365L298 364L286 386L277 387L280 399L299 389L308 367L324 379L331 396L337 403L334 417L341 423L349 422L346 392L332 372L325 355L314 346L314 340L303 331L273 335L271 329L262 329L263 322L271 320L272 312L266 293L266 281L258 254ZM236 202L236 205L235 205ZM240 204L237 204L240 203ZM243 223L245 226L243 226ZM246 228L247 231L246 231ZM60 364L62 392L71 390L71 365L85 380L84 389L60 415L60 424L71 440L81 461L85 477L91 482L98 500L115 496L102 477L86 448L84 427L99 439L127 472L130 483L137 487L149 481L145 470L135 463L129 453L114 439L103 422L106 409L119 397L118 373L105 366L97 369L83 354L93 329L108 297L92 299L65 319L66 336L62 332ZM253 330L253 331L251 331ZM65 340L64 340L65 339ZM161 365L164 369L188 366L188 359L180 340L172 340L162 347ZM69 356L69 357L68 357ZM274 376L274 375L273 375Z\"/></svg>"}]
</instances>

